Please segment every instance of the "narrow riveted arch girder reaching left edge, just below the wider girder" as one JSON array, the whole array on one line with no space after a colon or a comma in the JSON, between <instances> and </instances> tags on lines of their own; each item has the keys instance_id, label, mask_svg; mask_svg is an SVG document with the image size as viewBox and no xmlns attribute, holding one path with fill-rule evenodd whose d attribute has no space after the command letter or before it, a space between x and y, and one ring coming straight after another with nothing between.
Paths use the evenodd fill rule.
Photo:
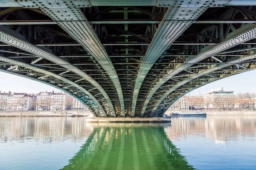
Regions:
<instances>
[{"instance_id":1,"label":"narrow riveted arch girder reaching left edge, just below the wider girder","mask_svg":"<svg viewBox=\"0 0 256 170\"><path fill-rule=\"evenodd\" d=\"M81 90L82 92L84 92L85 94L87 94L87 96L89 96L94 102L95 102L95 105L99 108L99 110L103 113L104 116L107 116L104 109L102 108L102 106L100 105L99 101L92 95L90 94L90 92L88 92L87 90L85 90L83 87L81 87L80 85L70 81L69 79L66 79L58 74L54 74L50 71L46 71L42 68L39 68L39 67L36 67L34 65L31 65L31 64L27 64L27 63L24 63L24 62L21 62L21 61L18 61L16 59L11 59L11 58L7 58L7 57L3 57L0 55L0 61L3 61L3 62L8 62L8 63L11 63L13 65L19 65L21 67L24 67L24 68L28 68L28 69L31 69L31 70L34 70L34 71L37 71L37 72L40 72L40 73L43 73L43 74L46 74L46 75L49 75L51 77L55 77L56 79L60 79L61 81L63 82L66 82L70 85L73 85L74 87L78 88L79 90ZM93 113L94 114L94 113ZM95 114L94 114L95 115Z\"/></svg>"}]
</instances>

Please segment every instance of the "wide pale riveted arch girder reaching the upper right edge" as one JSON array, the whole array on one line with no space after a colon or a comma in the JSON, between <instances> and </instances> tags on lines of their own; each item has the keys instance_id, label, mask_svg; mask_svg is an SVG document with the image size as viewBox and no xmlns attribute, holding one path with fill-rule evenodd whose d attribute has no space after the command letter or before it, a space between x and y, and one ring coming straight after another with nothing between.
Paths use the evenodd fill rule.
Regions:
<instances>
[{"instance_id":1,"label":"wide pale riveted arch girder reaching the upper right edge","mask_svg":"<svg viewBox=\"0 0 256 170\"><path fill-rule=\"evenodd\" d=\"M203 51L201 53L199 53L195 57L189 58L183 64L177 66L177 68L175 68L173 71L171 71L165 77L163 77L159 82L157 82L157 84L154 86L154 88L150 91L150 93L148 94L147 99L145 100L145 103L143 105L143 110L142 110L141 116L144 116L148 102L150 101L151 97L155 94L155 92L165 82L167 82L169 79L174 77L176 74L180 73L181 71L186 70L187 68L194 65L196 62L199 62L208 57L212 57L221 51L225 51L229 48L232 48L236 45L241 44L242 42L246 42L246 41L252 40L254 38L256 38L256 26L247 24L244 27L237 29L235 32L230 33L228 35L227 39L225 39L223 42L220 42L217 45L213 45L211 47L207 46L206 48L203 49ZM154 113L151 113L151 116L153 114Z\"/></svg>"}]
</instances>

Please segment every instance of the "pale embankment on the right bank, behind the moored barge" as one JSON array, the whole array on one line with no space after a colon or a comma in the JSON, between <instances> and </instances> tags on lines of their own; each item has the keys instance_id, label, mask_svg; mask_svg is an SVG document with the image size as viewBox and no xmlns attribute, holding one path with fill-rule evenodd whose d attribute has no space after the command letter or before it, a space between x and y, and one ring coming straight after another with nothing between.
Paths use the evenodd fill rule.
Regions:
<instances>
[{"instance_id":1,"label":"pale embankment on the right bank, behind the moored barge","mask_svg":"<svg viewBox=\"0 0 256 170\"><path fill-rule=\"evenodd\" d=\"M169 110L166 114L171 113L206 113L207 116L256 116L256 111L179 111L179 110Z\"/></svg>"}]
</instances>

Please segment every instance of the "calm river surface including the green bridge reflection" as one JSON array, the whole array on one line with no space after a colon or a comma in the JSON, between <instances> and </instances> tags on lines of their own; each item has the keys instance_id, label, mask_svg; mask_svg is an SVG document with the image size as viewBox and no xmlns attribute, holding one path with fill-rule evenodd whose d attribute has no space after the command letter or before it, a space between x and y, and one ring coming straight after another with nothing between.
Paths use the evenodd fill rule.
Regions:
<instances>
[{"instance_id":1,"label":"calm river surface including the green bridge reflection","mask_svg":"<svg viewBox=\"0 0 256 170\"><path fill-rule=\"evenodd\" d=\"M0 118L0 170L256 170L256 116Z\"/></svg>"}]
</instances>

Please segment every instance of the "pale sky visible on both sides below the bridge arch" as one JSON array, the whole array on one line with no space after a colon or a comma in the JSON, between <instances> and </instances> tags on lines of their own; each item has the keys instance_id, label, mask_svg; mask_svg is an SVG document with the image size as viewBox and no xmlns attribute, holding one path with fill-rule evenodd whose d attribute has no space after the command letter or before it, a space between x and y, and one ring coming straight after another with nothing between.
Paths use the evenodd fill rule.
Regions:
<instances>
[{"instance_id":1,"label":"pale sky visible on both sides below the bridge arch","mask_svg":"<svg viewBox=\"0 0 256 170\"><path fill-rule=\"evenodd\" d=\"M201 88L191 91L190 96L199 96L199 94L202 96L204 93L210 92L212 88L220 87L223 87L224 91L234 91L235 94L238 94L239 92L256 92L256 70L247 71L209 83L208 85L204 85ZM57 92L60 90L31 79L0 72L0 91L39 93L40 91Z\"/></svg>"}]
</instances>

